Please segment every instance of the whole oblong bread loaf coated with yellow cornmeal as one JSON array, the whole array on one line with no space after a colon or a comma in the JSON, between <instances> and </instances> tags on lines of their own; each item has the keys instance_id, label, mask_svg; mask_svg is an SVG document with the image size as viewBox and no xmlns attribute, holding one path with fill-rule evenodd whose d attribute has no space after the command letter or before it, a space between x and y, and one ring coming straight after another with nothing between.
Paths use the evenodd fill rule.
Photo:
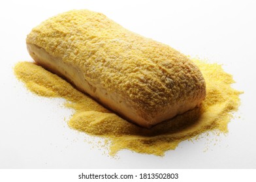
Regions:
<instances>
[{"instance_id":1,"label":"whole oblong bread loaf coated with yellow cornmeal","mask_svg":"<svg viewBox=\"0 0 256 182\"><path fill-rule=\"evenodd\" d=\"M191 60L101 13L59 14L35 27L26 42L41 66L142 127L193 109L206 96Z\"/></svg>"}]
</instances>

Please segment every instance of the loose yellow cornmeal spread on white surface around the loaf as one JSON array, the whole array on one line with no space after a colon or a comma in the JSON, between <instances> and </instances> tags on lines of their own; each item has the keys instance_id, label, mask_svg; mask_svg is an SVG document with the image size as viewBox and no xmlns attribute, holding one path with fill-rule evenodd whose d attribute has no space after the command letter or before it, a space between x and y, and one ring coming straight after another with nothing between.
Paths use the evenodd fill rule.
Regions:
<instances>
[{"instance_id":1,"label":"loose yellow cornmeal spread on white surface around the loaf","mask_svg":"<svg viewBox=\"0 0 256 182\"><path fill-rule=\"evenodd\" d=\"M19 62L14 72L31 92L44 97L65 98L65 106L75 111L69 120L69 127L109 140L110 155L115 155L121 149L164 155L165 151L175 149L180 142L206 131L227 133L232 111L240 105L239 95L242 92L231 88L234 83L232 75L225 73L218 64L197 59L193 61L206 81L207 95L202 106L155 125L152 129L123 120L37 64Z\"/></svg>"}]
</instances>

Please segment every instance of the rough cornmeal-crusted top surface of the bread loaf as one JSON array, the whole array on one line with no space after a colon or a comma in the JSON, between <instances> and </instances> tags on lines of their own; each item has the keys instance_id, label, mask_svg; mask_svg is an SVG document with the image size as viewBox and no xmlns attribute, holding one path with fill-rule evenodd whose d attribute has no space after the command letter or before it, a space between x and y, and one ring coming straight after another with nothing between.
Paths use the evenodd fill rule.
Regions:
<instances>
[{"instance_id":1,"label":"rough cornmeal-crusted top surface of the bread loaf","mask_svg":"<svg viewBox=\"0 0 256 182\"><path fill-rule=\"evenodd\" d=\"M191 60L101 13L71 10L54 16L27 35L27 44L77 66L86 80L145 112L205 96L204 78Z\"/></svg>"}]
</instances>

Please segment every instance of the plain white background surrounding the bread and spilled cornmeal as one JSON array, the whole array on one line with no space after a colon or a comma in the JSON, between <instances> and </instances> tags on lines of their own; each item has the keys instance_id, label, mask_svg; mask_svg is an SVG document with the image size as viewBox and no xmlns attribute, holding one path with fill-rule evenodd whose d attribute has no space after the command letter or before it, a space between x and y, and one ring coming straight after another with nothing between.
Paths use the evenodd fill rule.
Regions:
<instances>
[{"instance_id":1,"label":"plain white background surrounding the bread and spilled cornmeal","mask_svg":"<svg viewBox=\"0 0 256 182\"><path fill-rule=\"evenodd\" d=\"M256 1L1 1L0 168L256 168ZM71 9L103 12L127 29L186 55L223 64L244 90L226 136L182 142L165 157L123 150L116 158L67 127L62 99L31 94L13 75L32 60L25 37L44 19ZM207 140L208 138L208 140ZM216 141L217 139L217 141Z\"/></svg>"}]
</instances>

